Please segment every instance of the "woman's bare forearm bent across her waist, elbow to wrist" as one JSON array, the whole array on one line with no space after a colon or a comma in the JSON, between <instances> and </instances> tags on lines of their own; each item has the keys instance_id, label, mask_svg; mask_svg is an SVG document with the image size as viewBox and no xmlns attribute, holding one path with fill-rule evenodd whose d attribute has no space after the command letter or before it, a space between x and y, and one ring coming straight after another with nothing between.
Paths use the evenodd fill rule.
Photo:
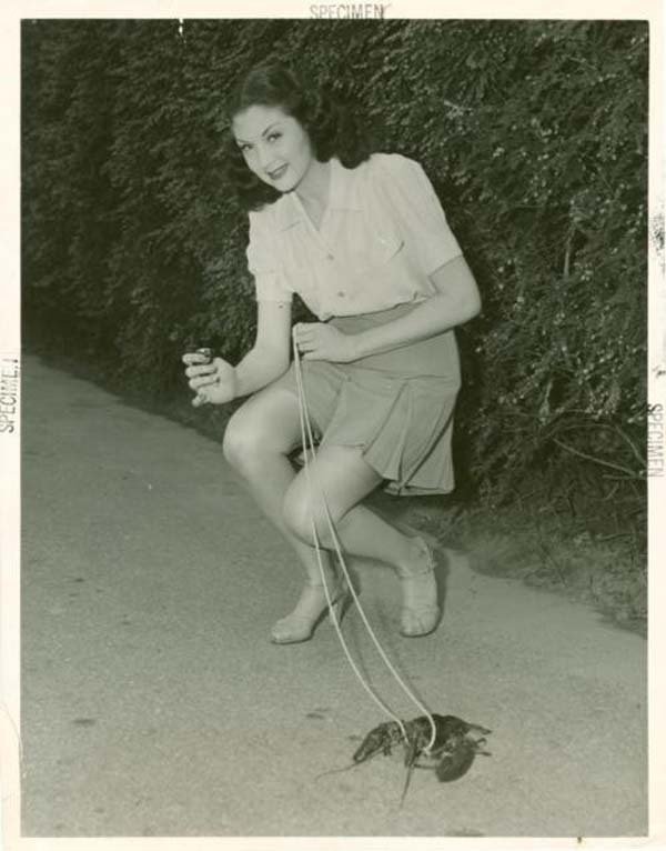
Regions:
<instances>
[{"instance_id":1,"label":"woman's bare forearm bent across her waist, elbow to wrist","mask_svg":"<svg viewBox=\"0 0 666 851\"><path fill-rule=\"evenodd\" d=\"M397 349L463 324L481 310L478 289L467 264L452 261L432 280L437 292L410 313L353 337L357 358Z\"/></svg>"}]
</instances>

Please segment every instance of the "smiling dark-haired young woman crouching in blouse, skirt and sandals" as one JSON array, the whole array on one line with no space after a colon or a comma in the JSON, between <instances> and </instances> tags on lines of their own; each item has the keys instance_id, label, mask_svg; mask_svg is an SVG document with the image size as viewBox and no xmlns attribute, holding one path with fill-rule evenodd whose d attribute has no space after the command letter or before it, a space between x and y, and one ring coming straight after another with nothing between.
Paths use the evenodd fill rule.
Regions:
<instances>
[{"instance_id":1,"label":"smiling dark-haired young woman crouching in blouse, skirt and sandals","mask_svg":"<svg viewBox=\"0 0 666 851\"><path fill-rule=\"evenodd\" d=\"M474 278L421 166L370 154L350 113L291 69L255 68L230 117L230 157L250 210L256 341L235 367L221 358L203 366L196 353L183 361L194 404L250 396L231 418L224 454L305 571L296 607L272 640L307 640L326 611L313 520L332 597L345 597L324 507L289 458L301 444L290 367L294 292L320 320L293 329L320 438L311 480L344 551L383 561L400 577L402 634L425 635L440 618L432 553L362 501L380 485L396 494L453 489L453 328L480 310Z\"/></svg>"}]
</instances>

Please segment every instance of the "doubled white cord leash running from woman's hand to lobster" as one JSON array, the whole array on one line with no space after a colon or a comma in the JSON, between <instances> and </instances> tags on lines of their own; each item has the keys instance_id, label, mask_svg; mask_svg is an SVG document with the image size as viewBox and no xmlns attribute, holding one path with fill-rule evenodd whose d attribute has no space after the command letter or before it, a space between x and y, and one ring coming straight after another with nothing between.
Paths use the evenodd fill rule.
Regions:
<instances>
[{"instance_id":1,"label":"doubled white cord leash running from woman's hand to lobster","mask_svg":"<svg viewBox=\"0 0 666 851\"><path fill-rule=\"evenodd\" d=\"M299 417L301 420L301 441L303 445L303 465L305 469L305 478L307 481L307 488L310 491L310 502L311 505L314 504L314 489L312 485L312 478L310 473L310 454L314 459L314 438L312 435L312 427L310 423L310 416L307 413L307 400L305 398L305 388L303 384L303 376L301 371L301 360L300 360L300 353L299 353L299 347L296 343L295 338L295 330L292 332L292 343L293 343L293 352L294 352L294 374L296 378L296 388L299 391ZM385 665L389 668L390 672L393 674L394 679L398 683L398 685L402 688L402 690L407 694L407 697L415 703L415 705L421 710L421 712L427 717L427 720L430 721L432 733L431 739L427 743L427 747L425 748L425 752L427 753L435 743L435 739L437 735L437 730L435 727L435 721L432 717L432 714L428 712L428 710L423 705L423 703L418 700L418 698L413 693L413 691L406 685L406 683L403 681L401 675L395 670L394 665L391 663L391 660L386 655L383 647L380 643L380 640L377 639L373 628L370 624L370 621L367 620L367 617L363 610L363 607L361 605L361 602L359 600L359 595L356 594L356 591L354 589L354 583L351 580L346 563L344 561L344 558L342 555L342 549L340 545L340 541L337 538L337 533L335 531L335 524L333 523L333 518L331 517L331 511L329 509L329 503L326 502L326 497L324 494L323 489L320 488L320 495L322 500L322 504L324 508L324 514L326 518L326 523L329 525L329 532L331 534L331 539L333 541L333 547L335 550L335 554L337 555L337 560L340 562L340 567L342 568L343 575L345 578L346 584L350 589L350 593L352 594L352 599L354 600L354 603L356 605L356 609L359 610L359 614L361 615L361 619L365 625L365 629L367 630L367 633L370 638L372 639L375 648L377 649L377 652L380 653L382 660L384 661ZM324 571L324 565L322 562L322 555L321 555L321 544L319 540L319 534L316 530L316 523L314 522L314 512L311 512L311 523L312 523L312 537L314 541L314 550L316 552L316 560L320 569L320 573L322 577L322 583L324 587L324 594L326 597L326 603L329 605L329 614L331 617L331 620L333 622L333 625L335 627L335 632L337 633L337 638L340 639L340 643L342 644L342 649L344 650L344 653L346 655L346 659L356 674L359 681L365 689L365 691L370 694L370 697L374 700L377 705L386 712L400 727L400 730L403 734L404 740L408 743L407 733L405 730L404 723L401 721L401 719L386 705L386 703L373 691L371 685L365 681L363 674L359 670L359 667L356 665L354 659L352 658L352 654L350 652L350 649L347 647L347 643L344 639L344 635L342 634L342 630L340 628L340 623L337 621L337 615L335 613L335 609L333 607L333 600L331 599L331 593L329 591L329 587L326 584L326 575Z\"/></svg>"}]
</instances>

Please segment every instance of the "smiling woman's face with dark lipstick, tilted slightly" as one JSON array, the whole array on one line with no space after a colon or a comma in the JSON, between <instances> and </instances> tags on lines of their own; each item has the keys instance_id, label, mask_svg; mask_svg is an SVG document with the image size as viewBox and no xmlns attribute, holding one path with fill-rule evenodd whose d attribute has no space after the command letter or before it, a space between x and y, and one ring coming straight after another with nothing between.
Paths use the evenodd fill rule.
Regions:
<instances>
[{"instance_id":1,"label":"smiling woman's face with dark lipstick, tilted slightly","mask_svg":"<svg viewBox=\"0 0 666 851\"><path fill-rule=\"evenodd\" d=\"M279 107L248 107L232 131L248 168L280 192L295 189L314 160L310 137Z\"/></svg>"}]
</instances>

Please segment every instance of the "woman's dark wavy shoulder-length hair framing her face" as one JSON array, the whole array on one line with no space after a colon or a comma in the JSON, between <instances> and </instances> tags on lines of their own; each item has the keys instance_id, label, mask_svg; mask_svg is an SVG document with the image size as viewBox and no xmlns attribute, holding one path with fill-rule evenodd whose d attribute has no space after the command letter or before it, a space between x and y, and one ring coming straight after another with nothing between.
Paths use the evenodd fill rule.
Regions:
<instances>
[{"instance_id":1,"label":"woman's dark wavy shoulder-length hair framing her face","mask_svg":"<svg viewBox=\"0 0 666 851\"><path fill-rule=\"evenodd\" d=\"M303 127L320 162L337 157L355 168L371 153L366 128L349 103L326 87L305 83L290 66L269 60L255 66L233 89L226 104L226 180L245 210L259 210L275 201L280 192L261 181L250 169L231 131L234 116L250 107L279 107Z\"/></svg>"}]
</instances>

